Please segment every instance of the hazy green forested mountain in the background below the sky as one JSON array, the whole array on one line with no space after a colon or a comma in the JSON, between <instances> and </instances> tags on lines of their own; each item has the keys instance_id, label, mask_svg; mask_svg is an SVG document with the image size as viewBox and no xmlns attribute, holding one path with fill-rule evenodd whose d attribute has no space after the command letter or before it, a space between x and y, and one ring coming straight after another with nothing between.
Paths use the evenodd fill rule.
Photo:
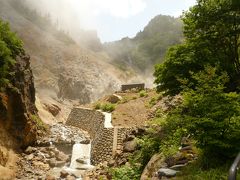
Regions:
<instances>
[{"instance_id":1,"label":"hazy green forested mountain in the background below the sky","mask_svg":"<svg viewBox=\"0 0 240 180\"><path fill-rule=\"evenodd\" d=\"M158 15L136 37L106 43L104 47L119 68L132 67L138 71L146 71L154 64L162 62L168 48L179 44L182 39L182 21L179 18Z\"/></svg>"}]
</instances>

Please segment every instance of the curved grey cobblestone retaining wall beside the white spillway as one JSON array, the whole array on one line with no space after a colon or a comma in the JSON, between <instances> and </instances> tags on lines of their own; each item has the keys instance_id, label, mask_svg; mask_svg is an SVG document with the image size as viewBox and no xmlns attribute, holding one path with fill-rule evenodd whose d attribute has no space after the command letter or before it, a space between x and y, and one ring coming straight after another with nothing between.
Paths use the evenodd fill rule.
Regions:
<instances>
[{"instance_id":1,"label":"curved grey cobblestone retaining wall beside the white spillway","mask_svg":"<svg viewBox=\"0 0 240 180\"><path fill-rule=\"evenodd\" d=\"M115 150L122 150L123 139L131 130L128 128L116 127L117 136L114 137L114 128L104 127L105 116L95 110L74 108L72 109L66 125L71 125L85 130L92 139L91 164L97 165L100 162L110 160ZM114 139L117 140L117 147L113 147Z\"/></svg>"}]
</instances>

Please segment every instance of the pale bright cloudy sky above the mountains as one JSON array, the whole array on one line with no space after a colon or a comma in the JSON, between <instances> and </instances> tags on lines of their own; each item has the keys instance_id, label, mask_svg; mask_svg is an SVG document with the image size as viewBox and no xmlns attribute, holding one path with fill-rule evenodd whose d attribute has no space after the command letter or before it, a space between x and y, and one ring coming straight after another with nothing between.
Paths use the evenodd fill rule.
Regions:
<instances>
[{"instance_id":1,"label":"pale bright cloudy sky above the mountains","mask_svg":"<svg viewBox=\"0 0 240 180\"><path fill-rule=\"evenodd\" d=\"M63 27L95 29L102 42L134 37L156 15L178 17L196 0L27 0ZM68 29L69 30L69 29Z\"/></svg>"}]
</instances>

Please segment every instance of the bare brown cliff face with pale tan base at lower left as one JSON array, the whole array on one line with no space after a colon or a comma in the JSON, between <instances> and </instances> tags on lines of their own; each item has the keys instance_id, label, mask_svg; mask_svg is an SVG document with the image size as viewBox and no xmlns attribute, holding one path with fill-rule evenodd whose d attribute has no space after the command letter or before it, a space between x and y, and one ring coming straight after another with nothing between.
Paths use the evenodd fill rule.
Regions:
<instances>
[{"instance_id":1,"label":"bare brown cliff face with pale tan base at lower left","mask_svg":"<svg viewBox=\"0 0 240 180\"><path fill-rule=\"evenodd\" d=\"M17 57L9 86L0 93L0 177L15 177L16 152L31 144L46 131L37 115L30 58Z\"/></svg>"}]
</instances>

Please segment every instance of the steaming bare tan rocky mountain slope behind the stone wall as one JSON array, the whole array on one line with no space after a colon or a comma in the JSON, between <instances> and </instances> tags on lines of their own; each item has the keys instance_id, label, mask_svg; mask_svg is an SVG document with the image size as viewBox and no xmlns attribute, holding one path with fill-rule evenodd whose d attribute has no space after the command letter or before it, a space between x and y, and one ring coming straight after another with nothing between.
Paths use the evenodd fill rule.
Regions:
<instances>
[{"instance_id":1,"label":"steaming bare tan rocky mountain slope behind the stone wall","mask_svg":"<svg viewBox=\"0 0 240 180\"><path fill-rule=\"evenodd\" d=\"M104 55L78 45L22 1L1 0L0 17L10 22L31 54L39 106L58 104L61 98L89 103L117 90L127 78L107 63ZM41 112L44 107L39 109Z\"/></svg>"}]
</instances>

